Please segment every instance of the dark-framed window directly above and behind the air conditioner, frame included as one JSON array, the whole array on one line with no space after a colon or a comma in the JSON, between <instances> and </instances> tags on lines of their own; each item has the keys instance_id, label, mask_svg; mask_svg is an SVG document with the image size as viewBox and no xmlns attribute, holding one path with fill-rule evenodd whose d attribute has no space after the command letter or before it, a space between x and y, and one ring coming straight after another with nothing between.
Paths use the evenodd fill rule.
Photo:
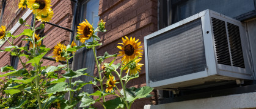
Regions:
<instances>
[{"instance_id":1,"label":"dark-framed window directly above and behind the air conditioner, frame included","mask_svg":"<svg viewBox=\"0 0 256 109\"><path fill-rule=\"evenodd\" d=\"M240 21L256 15L255 0L159 0L159 28L166 27L166 24L174 24L206 9Z\"/></svg>"}]
</instances>

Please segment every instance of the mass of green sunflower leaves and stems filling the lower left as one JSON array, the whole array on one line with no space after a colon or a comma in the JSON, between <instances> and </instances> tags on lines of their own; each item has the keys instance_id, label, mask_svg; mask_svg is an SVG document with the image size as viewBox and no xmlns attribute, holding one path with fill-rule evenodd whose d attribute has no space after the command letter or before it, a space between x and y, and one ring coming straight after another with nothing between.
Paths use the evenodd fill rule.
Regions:
<instances>
[{"instance_id":1,"label":"mass of green sunflower leaves and stems filling the lower left","mask_svg":"<svg viewBox=\"0 0 256 109\"><path fill-rule=\"evenodd\" d=\"M35 11L35 13L37 13ZM24 29L20 35L13 36L9 31L5 32L5 38L10 46L4 47L4 50L0 50L1 52L7 51L10 52L12 56L17 56L20 59L21 65L23 68L15 69L10 65L5 65L1 68L1 72L6 72L5 74L1 74L0 77L6 76L15 76L12 79L6 79L6 81L1 81L1 84L4 84L0 89L0 95L10 96L9 98L5 98L0 96L0 108L75 108L78 107L78 102L81 102L79 107L85 108L94 108L93 104L96 102L100 102L104 108L131 108L131 104L136 99L141 99L144 97L149 97L150 92L153 88L150 87L142 87L142 88L126 88L126 84L131 79L135 79L139 77L139 73L126 76L122 76L123 70L130 68L129 65L133 65L133 68L136 67L137 63L133 59L130 62L115 62L117 58L117 54L109 54L105 52L103 56L98 56L96 54L96 47L101 46L100 38L95 35L95 33L105 30L105 23L103 20L98 24L98 27L94 30L92 28L92 41L84 42L81 46L76 45L65 45L61 48L60 51L57 51L55 54L62 56L65 61L69 61L69 59L73 58L75 51L80 48L86 47L87 49L92 48L95 63L97 65L98 77L91 76L90 72L86 72L87 68L82 68L76 71L70 69L68 64L66 65L57 65L56 66L43 66L43 57L46 54L49 54L48 51L51 48L45 47L45 45L38 45L42 42L46 36L34 41L35 39L35 31L45 28L44 24L40 24L40 27L33 27L28 25L26 21L23 19L19 19L21 25L25 25L30 27L31 29ZM34 18L35 22L35 18ZM13 41L17 40L20 36L26 36L26 38L21 39L21 41L33 42L34 48L28 47L18 47L13 43ZM79 35L76 35L76 39L79 40ZM74 47L73 47L74 46ZM59 49L60 50L60 49ZM26 52L24 52L26 51ZM55 50L56 51L56 50ZM26 54L25 54L26 53ZM70 53L73 55L71 56ZM55 56L55 55L54 55ZM21 59L22 57L22 59ZM51 58L51 57L50 57ZM111 62L104 62L108 58L114 58ZM116 64L117 63L117 64ZM27 65L32 65L33 70L27 70ZM100 70L100 65L103 65L102 71ZM132 68L131 68L132 69ZM130 69L129 69L130 70ZM128 70L128 71L129 71ZM60 71L65 71L65 74L59 74ZM101 73L104 73L104 76L101 77ZM115 74L114 74L115 73ZM72 81L73 78L78 78L79 76L90 76L94 81L84 82L84 81ZM111 78L109 78L111 76ZM112 78L112 76L114 76ZM117 82L115 78L119 78L120 82ZM65 82L65 81L69 82ZM106 88L103 88L103 82L107 81L106 85L111 93L106 93ZM94 93L81 92L80 90L84 85L94 85L98 88ZM116 84L121 84L122 89L125 90L116 90L119 91L119 95L115 93ZM64 99L66 93L69 93L69 98ZM105 97L109 94L117 96L115 99L106 101ZM92 99L91 96L97 96L98 99ZM100 101L102 99L102 101Z\"/></svg>"}]
</instances>

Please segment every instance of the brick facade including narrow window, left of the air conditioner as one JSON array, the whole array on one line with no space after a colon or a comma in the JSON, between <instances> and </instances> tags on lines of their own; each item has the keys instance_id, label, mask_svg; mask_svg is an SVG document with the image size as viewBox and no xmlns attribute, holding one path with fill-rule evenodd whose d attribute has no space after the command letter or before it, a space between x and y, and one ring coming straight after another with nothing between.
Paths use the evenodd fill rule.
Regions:
<instances>
[{"instance_id":1,"label":"brick facade including narrow window, left of the air conditioner","mask_svg":"<svg viewBox=\"0 0 256 109\"><path fill-rule=\"evenodd\" d=\"M31 24L33 17L31 10L29 10L29 8L23 10L18 8L19 1L3 0L1 2L1 24L5 25L7 30L11 30L13 35L19 35L21 31L27 29L27 27L21 26L18 19L23 18L27 24ZM103 55L105 51L108 51L110 54L118 53L119 49L117 48L117 43L122 42L124 36L135 37L136 39L139 39L143 45L144 36L157 30L156 0L52 0L51 5L54 16L49 23L45 23L44 30L38 31L38 34L42 33L44 36L47 36L43 39L43 45L51 48L51 51L49 51L46 56L53 56L53 48L57 43L60 42L68 45L70 42L75 41L77 26L80 22L84 21L84 19L87 19L90 24L93 24L93 27L97 27L100 19L103 19L104 22L106 22L107 31L105 33L98 33L103 45L97 48L97 56ZM36 22L36 27L40 24L41 22ZM4 41L0 44L1 50L3 50L5 46L9 46L9 44ZM15 40L15 44L24 47L26 42ZM81 43L76 41L76 44L80 45ZM22 60L24 61L24 59ZM117 58L117 62L120 62L120 60L121 58ZM111 59L106 62L110 61ZM12 65L17 69L22 68L18 59L7 52L0 53L0 62L0 67ZM144 62L144 58L142 58L141 62ZM58 64L60 63L48 59L44 59L43 61L43 65ZM92 50L90 49L81 48L78 50L70 66L72 66L73 70L87 67L89 68L87 69L87 72L91 75L98 75ZM32 69L31 65L27 65L26 67ZM145 86L145 67L142 67L139 76L139 78L130 81L130 83L127 84L127 87ZM86 76L81 76L76 79L82 81L92 80L92 78ZM118 87L120 88L120 86ZM92 85L86 85L85 87L82 87L82 90L93 93L93 91L96 91L97 89L96 87L92 87ZM133 108L143 108L146 104L156 104L156 92L153 91L152 94L154 95L153 97L139 99L134 102ZM114 99L114 96L107 96L106 99ZM103 108L100 104L95 104L95 107Z\"/></svg>"}]
</instances>

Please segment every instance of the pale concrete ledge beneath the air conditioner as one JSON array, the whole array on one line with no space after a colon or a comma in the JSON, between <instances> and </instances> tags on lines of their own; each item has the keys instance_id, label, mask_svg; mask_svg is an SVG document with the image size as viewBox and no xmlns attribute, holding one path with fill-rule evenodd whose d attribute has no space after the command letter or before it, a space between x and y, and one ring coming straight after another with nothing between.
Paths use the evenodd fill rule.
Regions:
<instances>
[{"instance_id":1,"label":"pale concrete ledge beneath the air conditioner","mask_svg":"<svg viewBox=\"0 0 256 109\"><path fill-rule=\"evenodd\" d=\"M229 96L210 97L191 101L172 102L161 105L145 105L144 109L169 109L169 108L256 108L256 92L233 94Z\"/></svg>"}]
</instances>

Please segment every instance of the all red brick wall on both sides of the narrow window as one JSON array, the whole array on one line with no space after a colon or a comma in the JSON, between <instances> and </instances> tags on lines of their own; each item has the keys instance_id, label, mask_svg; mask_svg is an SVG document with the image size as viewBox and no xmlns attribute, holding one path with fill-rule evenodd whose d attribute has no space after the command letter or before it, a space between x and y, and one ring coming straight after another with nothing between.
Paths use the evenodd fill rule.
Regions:
<instances>
[{"instance_id":1,"label":"all red brick wall on both sides of the narrow window","mask_svg":"<svg viewBox=\"0 0 256 109\"><path fill-rule=\"evenodd\" d=\"M60 25L62 27L71 28L72 21L72 5L68 0L52 0L52 8L54 11L53 20L50 21L53 24ZM18 1L7 0L5 6L4 17L2 24L7 26L7 30L10 30L13 25L16 24L19 18L27 11L18 9ZM141 45L144 46L144 36L149 35L157 30L157 0L100 0L99 13L100 19L106 21L106 33L99 33L103 45L97 48L97 55L101 56L105 51L114 54L118 53L119 49L116 48L118 42L122 42L122 37L133 36L141 41ZM26 21L30 24L32 15L30 15ZM37 22L39 25L40 22ZM14 31L14 35L18 35L21 31L27 27L19 27ZM45 35L47 36L43 40L43 44L46 47L51 48L51 51L47 54L52 56L54 45L58 42L69 44L70 32L62 30L61 28L53 27L49 24L45 25ZM26 42L16 40L17 45L24 46ZM3 50L4 46L8 46L6 42L0 47ZM144 48L142 48L144 49ZM144 54L144 53L143 53ZM22 59L24 61L24 59ZM142 58L142 64L145 64L144 56ZM108 62L111 59L107 60ZM10 65L10 53L0 53L0 67L7 64ZM120 62L120 57L117 58L117 62ZM54 61L44 61L43 64L57 65ZM31 66L27 66L32 68ZM18 68L21 68L19 63ZM97 76L97 69L95 68L95 76ZM127 84L127 87L142 87L145 86L145 65L142 67L140 77L133 79ZM120 86L118 86L120 88ZM96 89L95 89L96 91ZM155 91L152 92L156 95ZM96 99L96 98L95 98ZM107 96L106 99L114 99L114 96ZM143 108L145 104L155 104L155 97L139 99L134 102L132 108ZM95 107L102 108L100 104L96 104Z\"/></svg>"}]
</instances>

